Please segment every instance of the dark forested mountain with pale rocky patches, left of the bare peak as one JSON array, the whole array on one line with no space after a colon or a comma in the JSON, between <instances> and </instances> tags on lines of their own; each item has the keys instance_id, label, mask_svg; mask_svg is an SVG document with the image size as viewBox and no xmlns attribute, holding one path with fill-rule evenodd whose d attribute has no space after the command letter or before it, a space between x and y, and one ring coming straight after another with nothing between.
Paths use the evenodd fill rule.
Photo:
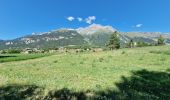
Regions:
<instances>
[{"instance_id":1,"label":"dark forested mountain with pale rocky patches, left of the bare peak","mask_svg":"<svg viewBox=\"0 0 170 100\"><path fill-rule=\"evenodd\" d=\"M87 44L75 30L60 29L0 42L0 49L55 48Z\"/></svg>"}]
</instances>

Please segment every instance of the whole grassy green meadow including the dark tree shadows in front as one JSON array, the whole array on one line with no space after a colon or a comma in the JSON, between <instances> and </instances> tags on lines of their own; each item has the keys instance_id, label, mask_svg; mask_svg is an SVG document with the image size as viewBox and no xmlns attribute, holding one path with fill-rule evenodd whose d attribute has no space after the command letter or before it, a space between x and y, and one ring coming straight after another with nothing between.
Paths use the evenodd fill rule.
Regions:
<instances>
[{"instance_id":1,"label":"whole grassy green meadow including the dark tree shadows in front","mask_svg":"<svg viewBox=\"0 0 170 100\"><path fill-rule=\"evenodd\" d=\"M0 63L2 98L168 100L170 46L68 52Z\"/></svg>"}]
</instances>

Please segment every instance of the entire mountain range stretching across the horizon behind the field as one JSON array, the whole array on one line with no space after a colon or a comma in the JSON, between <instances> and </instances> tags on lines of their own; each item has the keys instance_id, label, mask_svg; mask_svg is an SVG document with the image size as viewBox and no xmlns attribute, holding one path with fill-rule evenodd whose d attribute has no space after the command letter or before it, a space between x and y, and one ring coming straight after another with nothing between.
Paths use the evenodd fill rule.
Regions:
<instances>
[{"instance_id":1,"label":"entire mountain range stretching across the horizon behind the field","mask_svg":"<svg viewBox=\"0 0 170 100\"><path fill-rule=\"evenodd\" d=\"M13 40L0 40L0 49L24 49L24 48L56 48L65 46L105 46L110 35L117 31L111 26L92 24L85 28L59 29L50 32L34 33ZM121 46L129 42L144 41L154 43L162 35L166 43L170 44L170 34L158 32L120 32Z\"/></svg>"}]
</instances>

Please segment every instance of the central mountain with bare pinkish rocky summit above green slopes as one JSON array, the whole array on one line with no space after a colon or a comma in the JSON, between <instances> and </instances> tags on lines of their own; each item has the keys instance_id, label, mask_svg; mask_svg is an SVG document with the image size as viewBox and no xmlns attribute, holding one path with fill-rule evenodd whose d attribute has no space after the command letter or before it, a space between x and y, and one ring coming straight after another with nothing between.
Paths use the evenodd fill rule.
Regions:
<instances>
[{"instance_id":1,"label":"central mountain with bare pinkish rocky summit above green slopes","mask_svg":"<svg viewBox=\"0 0 170 100\"><path fill-rule=\"evenodd\" d=\"M110 35L117 31L112 26L102 26L100 24L92 24L89 27L76 29L89 44L95 46L105 46L110 38ZM120 34L121 44L128 41L127 37Z\"/></svg>"}]
</instances>

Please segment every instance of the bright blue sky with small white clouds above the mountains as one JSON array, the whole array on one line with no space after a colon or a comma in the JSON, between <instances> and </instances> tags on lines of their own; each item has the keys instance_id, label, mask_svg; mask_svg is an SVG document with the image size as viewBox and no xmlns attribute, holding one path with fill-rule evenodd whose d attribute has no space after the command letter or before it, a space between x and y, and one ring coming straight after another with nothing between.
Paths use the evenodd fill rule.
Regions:
<instances>
[{"instance_id":1,"label":"bright blue sky with small white clouds above the mountains","mask_svg":"<svg viewBox=\"0 0 170 100\"><path fill-rule=\"evenodd\" d=\"M170 32L169 4L170 0L0 0L0 39L93 23L123 32Z\"/></svg>"}]
</instances>

